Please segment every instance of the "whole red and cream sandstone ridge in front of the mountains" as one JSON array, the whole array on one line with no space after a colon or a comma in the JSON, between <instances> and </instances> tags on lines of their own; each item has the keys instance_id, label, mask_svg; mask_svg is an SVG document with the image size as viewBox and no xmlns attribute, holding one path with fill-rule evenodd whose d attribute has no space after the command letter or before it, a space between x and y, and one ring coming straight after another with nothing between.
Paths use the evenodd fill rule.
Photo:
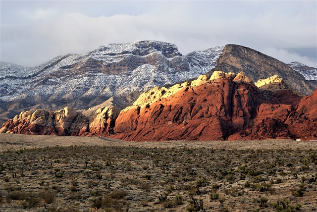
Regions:
<instances>
[{"instance_id":1,"label":"whole red and cream sandstone ridge in front of the mountains","mask_svg":"<svg viewBox=\"0 0 317 212\"><path fill-rule=\"evenodd\" d=\"M267 78L258 88L242 72L214 71L211 77L155 87L121 111L102 107L91 118L69 107L21 112L0 132L128 141L317 139L317 89L301 97L276 86L268 93L264 84L282 88L283 80Z\"/></svg>"}]
</instances>

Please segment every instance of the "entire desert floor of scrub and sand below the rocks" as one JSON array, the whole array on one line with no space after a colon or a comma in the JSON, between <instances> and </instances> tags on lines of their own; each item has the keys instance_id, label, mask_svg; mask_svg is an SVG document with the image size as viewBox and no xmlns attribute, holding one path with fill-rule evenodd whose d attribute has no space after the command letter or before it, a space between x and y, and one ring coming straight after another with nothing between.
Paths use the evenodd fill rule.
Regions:
<instances>
[{"instance_id":1,"label":"entire desert floor of scrub and sand below the rocks","mask_svg":"<svg viewBox=\"0 0 317 212\"><path fill-rule=\"evenodd\" d=\"M317 142L0 134L0 211L317 211Z\"/></svg>"}]
</instances>

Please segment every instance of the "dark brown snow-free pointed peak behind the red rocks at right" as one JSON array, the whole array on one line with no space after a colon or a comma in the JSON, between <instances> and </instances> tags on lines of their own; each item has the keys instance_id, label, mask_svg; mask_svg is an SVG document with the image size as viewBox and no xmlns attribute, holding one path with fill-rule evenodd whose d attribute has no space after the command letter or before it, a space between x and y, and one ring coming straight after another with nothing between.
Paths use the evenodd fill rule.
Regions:
<instances>
[{"instance_id":1,"label":"dark brown snow-free pointed peak behind the red rocks at right","mask_svg":"<svg viewBox=\"0 0 317 212\"><path fill-rule=\"evenodd\" d=\"M239 45L226 45L213 70L235 73L243 71L254 82L278 75L284 80L286 89L301 96L311 95L317 88L317 83L308 82L287 64Z\"/></svg>"}]
</instances>

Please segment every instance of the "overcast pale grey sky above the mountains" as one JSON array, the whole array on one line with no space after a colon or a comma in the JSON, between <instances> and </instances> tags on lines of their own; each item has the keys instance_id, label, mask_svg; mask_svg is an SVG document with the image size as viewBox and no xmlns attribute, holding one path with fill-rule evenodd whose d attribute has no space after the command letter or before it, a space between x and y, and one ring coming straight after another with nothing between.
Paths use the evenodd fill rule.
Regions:
<instances>
[{"instance_id":1,"label":"overcast pale grey sky above the mountains","mask_svg":"<svg viewBox=\"0 0 317 212\"><path fill-rule=\"evenodd\" d=\"M182 54L226 44L317 67L317 1L0 0L0 59L32 67L109 43L159 40Z\"/></svg>"}]
</instances>

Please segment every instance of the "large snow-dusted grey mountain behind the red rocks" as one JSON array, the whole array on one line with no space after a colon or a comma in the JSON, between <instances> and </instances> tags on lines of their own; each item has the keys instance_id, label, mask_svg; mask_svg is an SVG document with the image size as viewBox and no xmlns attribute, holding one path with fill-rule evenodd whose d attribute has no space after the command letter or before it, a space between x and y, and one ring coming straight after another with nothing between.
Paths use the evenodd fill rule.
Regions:
<instances>
[{"instance_id":1,"label":"large snow-dusted grey mountain behind the red rocks","mask_svg":"<svg viewBox=\"0 0 317 212\"><path fill-rule=\"evenodd\" d=\"M23 110L65 106L86 110L105 101L124 108L140 92L210 71L222 49L182 55L174 44L135 41L58 56L34 68L1 62L0 116L4 121Z\"/></svg>"}]
</instances>

